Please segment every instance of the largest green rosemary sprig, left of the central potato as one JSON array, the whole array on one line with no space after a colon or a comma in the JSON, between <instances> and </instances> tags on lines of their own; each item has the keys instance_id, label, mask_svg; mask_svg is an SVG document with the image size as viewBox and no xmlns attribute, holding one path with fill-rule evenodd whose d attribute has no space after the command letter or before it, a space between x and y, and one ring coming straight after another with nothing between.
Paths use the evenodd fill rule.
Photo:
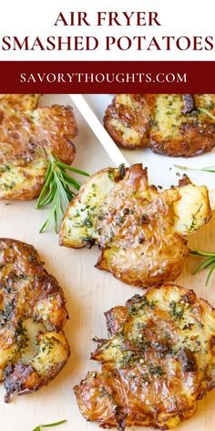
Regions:
<instances>
[{"instance_id":1,"label":"largest green rosemary sprig, left of the central potato","mask_svg":"<svg viewBox=\"0 0 215 431\"><path fill-rule=\"evenodd\" d=\"M76 191L80 189L81 184L75 178L68 175L67 171L89 176L88 173L80 169L60 162L54 154L48 154L45 184L38 197L36 209L44 208L47 205L52 206L46 222L40 229L40 233L45 232L53 220L55 231L56 233L58 232L69 202L76 194Z\"/></svg>"}]
</instances>

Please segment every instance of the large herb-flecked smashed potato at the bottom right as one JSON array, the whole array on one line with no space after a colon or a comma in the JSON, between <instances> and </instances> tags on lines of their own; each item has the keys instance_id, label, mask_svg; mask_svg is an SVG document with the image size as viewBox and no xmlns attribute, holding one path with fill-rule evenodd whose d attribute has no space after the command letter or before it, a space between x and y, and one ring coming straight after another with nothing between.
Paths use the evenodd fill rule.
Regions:
<instances>
[{"instance_id":1,"label":"large herb-flecked smashed potato at the bottom right","mask_svg":"<svg viewBox=\"0 0 215 431\"><path fill-rule=\"evenodd\" d=\"M103 428L169 429L194 415L215 387L215 310L167 284L107 311L109 339L91 358L102 372L75 386L84 417Z\"/></svg>"}]
</instances>

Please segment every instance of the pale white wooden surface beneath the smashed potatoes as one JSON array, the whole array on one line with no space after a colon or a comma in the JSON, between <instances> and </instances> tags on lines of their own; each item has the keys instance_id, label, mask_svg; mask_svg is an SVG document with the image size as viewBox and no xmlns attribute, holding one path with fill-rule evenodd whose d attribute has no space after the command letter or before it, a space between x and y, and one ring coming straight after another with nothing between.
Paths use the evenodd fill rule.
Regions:
<instances>
[{"instance_id":1,"label":"pale white wooden surface beneath the smashed potatoes","mask_svg":"<svg viewBox=\"0 0 215 431\"><path fill-rule=\"evenodd\" d=\"M65 103L68 102L67 96L61 99L59 96L46 97L45 100L46 102L62 100ZM77 114L77 121L80 132L76 140L77 158L74 165L86 169L89 173L111 165L107 154L79 114ZM152 157L154 157L153 154ZM158 172L156 175L158 176ZM150 177L153 179L153 173ZM163 171L159 184L165 184L167 182L165 178L165 171ZM176 184L178 177L174 178ZM215 185L215 175L214 180L213 175L210 178L210 182L213 181ZM141 290L124 285L110 274L94 268L98 254L96 248L72 250L58 247L58 238L51 231L38 234L39 227L46 218L46 211L36 211L35 206L36 202L10 203L10 205L1 202L0 237L14 237L33 244L46 261L47 270L58 279L67 298L70 321L67 322L66 332L72 354L66 367L56 379L36 394L17 396L10 404L5 405L4 388L2 384L0 385L0 430L32 431L36 425L67 419L66 425L53 429L98 431L97 424L87 423L79 414L73 386L85 377L88 370L97 368L97 363L90 361L89 355L95 348L92 338L95 335L101 338L107 336L104 311L115 305L124 304L128 298L135 293L140 293ZM190 238L189 244L192 247L215 250L215 217L208 226ZM198 258L188 258L177 282L187 288L195 289L198 295L215 305L215 275L208 289L204 285L204 273L197 276L191 275L192 269L198 262ZM177 429L179 431L214 429L214 403L215 391L200 402L197 414ZM142 429L130 428L132 431Z\"/></svg>"}]
</instances>

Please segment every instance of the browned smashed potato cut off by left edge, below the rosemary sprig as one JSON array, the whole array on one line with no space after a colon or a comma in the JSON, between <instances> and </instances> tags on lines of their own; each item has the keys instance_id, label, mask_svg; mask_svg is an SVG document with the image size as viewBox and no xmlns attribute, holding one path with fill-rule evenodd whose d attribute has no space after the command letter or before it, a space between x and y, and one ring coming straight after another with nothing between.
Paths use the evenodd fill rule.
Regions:
<instances>
[{"instance_id":1,"label":"browned smashed potato cut off by left edge, below the rosemary sprig","mask_svg":"<svg viewBox=\"0 0 215 431\"><path fill-rule=\"evenodd\" d=\"M0 380L5 401L48 384L67 363L66 301L35 247L0 239Z\"/></svg>"}]
</instances>

